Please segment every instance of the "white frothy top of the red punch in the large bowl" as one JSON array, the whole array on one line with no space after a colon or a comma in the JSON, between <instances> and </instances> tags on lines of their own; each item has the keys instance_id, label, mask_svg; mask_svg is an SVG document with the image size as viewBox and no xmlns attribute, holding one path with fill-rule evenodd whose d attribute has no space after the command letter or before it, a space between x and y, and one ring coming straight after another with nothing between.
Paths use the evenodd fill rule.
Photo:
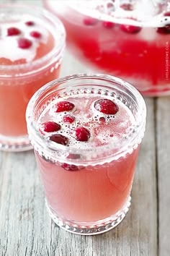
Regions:
<instances>
[{"instance_id":1,"label":"white frothy top of the red punch in the large bowl","mask_svg":"<svg viewBox=\"0 0 170 256\"><path fill-rule=\"evenodd\" d=\"M134 9L128 11L120 7L124 1L115 0L81 0L81 1L58 1L54 3L53 0L48 1L48 6L53 8L56 13L66 12L67 6L75 9L77 12L88 17L94 17L99 20L105 20L125 25L136 25L141 27L164 27L170 24L170 17L164 17L164 12L168 10L161 10L160 1L125 1L125 4L132 3ZM108 8L108 5L112 8ZM169 10L170 11L170 10Z\"/></svg>"}]
</instances>

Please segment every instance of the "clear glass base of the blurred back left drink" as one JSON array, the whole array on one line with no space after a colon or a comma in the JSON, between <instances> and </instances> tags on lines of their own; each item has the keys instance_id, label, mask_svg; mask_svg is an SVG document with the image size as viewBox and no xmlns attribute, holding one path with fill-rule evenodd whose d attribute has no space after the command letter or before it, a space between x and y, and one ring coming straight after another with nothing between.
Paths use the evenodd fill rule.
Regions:
<instances>
[{"instance_id":1,"label":"clear glass base of the blurred back left drink","mask_svg":"<svg viewBox=\"0 0 170 256\"><path fill-rule=\"evenodd\" d=\"M27 135L19 137L6 137L0 135L0 150L19 152L31 149L32 145L30 144L30 140Z\"/></svg>"}]
</instances>

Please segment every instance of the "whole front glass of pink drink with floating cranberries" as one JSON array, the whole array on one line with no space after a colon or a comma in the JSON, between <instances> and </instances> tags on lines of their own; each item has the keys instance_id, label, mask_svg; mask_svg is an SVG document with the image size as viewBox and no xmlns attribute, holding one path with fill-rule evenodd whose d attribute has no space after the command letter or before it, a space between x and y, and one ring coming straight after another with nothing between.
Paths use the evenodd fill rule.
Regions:
<instances>
[{"instance_id":1,"label":"whole front glass of pink drink with floating cranberries","mask_svg":"<svg viewBox=\"0 0 170 256\"><path fill-rule=\"evenodd\" d=\"M26 116L53 221L75 234L117 226L146 127L138 90L103 74L64 77L35 93Z\"/></svg>"}]
</instances>

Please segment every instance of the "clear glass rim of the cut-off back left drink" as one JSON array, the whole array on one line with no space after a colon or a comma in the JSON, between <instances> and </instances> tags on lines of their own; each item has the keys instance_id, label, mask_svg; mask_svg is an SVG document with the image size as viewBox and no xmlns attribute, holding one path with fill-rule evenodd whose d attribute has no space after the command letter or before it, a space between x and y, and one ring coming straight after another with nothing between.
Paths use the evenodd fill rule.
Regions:
<instances>
[{"instance_id":1,"label":"clear glass rim of the cut-off back left drink","mask_svg":"<svg viewBox=\"0 0 170 256\"><path fill-rule=\"evenodd\" d=\"M47 10L45 10L42 7L35 7L33 5L29 6L27 4L18 4L18 3L8 3L8 4L1 4L0 3L0 14L3 12L2 8L20 8L20 9L30 9L32 11L32 9L34 10L34 12L36 11L36 14L41 14L42 17L48 19L53 25L55 25L55 27L58 27L59 30L61 31L61 35L58 39L58 42L53 49L48 52L48 54L46 54L45 56L40 57L39 59L35 59L34 61L31 62L27 62L24 64L14 64L14 65L2 65L0 64L0 70L19 70L19 69L24 69L27 67L36 67L39 64L43 64L45 61L48 61L48 59L51 59L53 56L55 56L57 54L57 56L60 58L61 57L61 52L63 51L63 48L65 48L66 45L66 30L65 27L63 26L63 23L61 22L61 20L58 19L58 17L56 17L55 15L53 15L52 13L48 12ZM54 35L53 35L54 36ZM54 36L55 39L55 36ZM37 70L33 70L31 73L36 72ZM30 73L30 72L29 72ZM19 76L22 76L24 74L27 74L27 72L23 72L23 74L19 74ZM18 75L17 75L18 76ZM10 75L6 75L0 74L0 77L10 77Z\"/></svg>"}]
</instances>

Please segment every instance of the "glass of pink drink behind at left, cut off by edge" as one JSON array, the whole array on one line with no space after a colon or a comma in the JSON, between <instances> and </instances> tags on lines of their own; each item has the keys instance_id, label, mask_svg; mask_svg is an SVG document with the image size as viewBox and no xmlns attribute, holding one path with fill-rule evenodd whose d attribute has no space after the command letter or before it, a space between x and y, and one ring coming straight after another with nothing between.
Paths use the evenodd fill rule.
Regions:
<instances>
[{"instance_id":1,"label":"glass of pink drink behind at left, cut off by edge","mask_svg":"<svg viewBox=\"0 0 170 256\"><path fill-rule=\"evenodd\" d=\"M65 30L36 7L0 4L0 149L27 150L25 111L42 85L58 77Z\"/></svg>"}]
</instances>

